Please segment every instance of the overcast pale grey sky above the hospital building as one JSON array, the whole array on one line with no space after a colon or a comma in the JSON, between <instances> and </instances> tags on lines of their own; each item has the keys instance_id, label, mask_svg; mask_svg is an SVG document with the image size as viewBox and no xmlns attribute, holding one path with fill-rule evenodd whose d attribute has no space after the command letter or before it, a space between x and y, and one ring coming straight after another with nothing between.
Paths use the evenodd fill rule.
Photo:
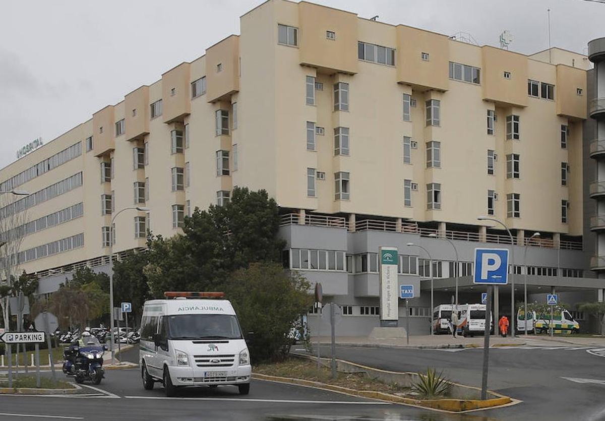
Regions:
<instances>
[{"instance_id":1,"label":"overcast pale grey sky above the hospital building","mask_svg":"<svg viewBox=\"0 0 605 421\"><path fill-rule=\"evenodd\" d=\"M239 16L262 0L3 0L0 13L0 168L41 136L45 143L124 94L154 82L204 48L239 33ZM315 0L364 18L479 44L514 36L511 50L552 46L586 53L605 36L605 4L582 0ZM601 29L600 29L601 28ZM1 180L0 180L1 181Z\"/></svg>"}]
</instances>

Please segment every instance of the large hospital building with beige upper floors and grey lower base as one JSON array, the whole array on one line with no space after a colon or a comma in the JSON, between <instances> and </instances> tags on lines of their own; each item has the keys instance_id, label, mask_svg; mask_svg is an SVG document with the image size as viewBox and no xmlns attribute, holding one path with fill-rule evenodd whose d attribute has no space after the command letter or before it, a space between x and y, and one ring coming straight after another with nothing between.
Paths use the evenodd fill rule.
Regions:
<instances>
[{"instance_id":1,"label":"large hospital building with beige upper floors and grey lower base","mask_svg":"<svg viewBox=\"0 0 605 421\"><path fill-rule=\"evenodd\" d=\"M120 210L148 208L115 218L117 256L246 186L280 205L284 265L343 305L342 333L378 325L379 246L397 247L399 283L420 292L416 332L428 331L431 265L407 243L431 253L436 304L450 302L456 267L460 302L479 301L474 247L513 247L522 285L534 232L532 299L603 299L590 266L587 56L526 56L304 1L269 0L240 22L241 34L0 171L2 191L30 194L5 194L0 215L27 212L19 261L40 293L77 267L106 270ZM503 221L515 245L479 215Z\"/></svg>"}]
</instances>

